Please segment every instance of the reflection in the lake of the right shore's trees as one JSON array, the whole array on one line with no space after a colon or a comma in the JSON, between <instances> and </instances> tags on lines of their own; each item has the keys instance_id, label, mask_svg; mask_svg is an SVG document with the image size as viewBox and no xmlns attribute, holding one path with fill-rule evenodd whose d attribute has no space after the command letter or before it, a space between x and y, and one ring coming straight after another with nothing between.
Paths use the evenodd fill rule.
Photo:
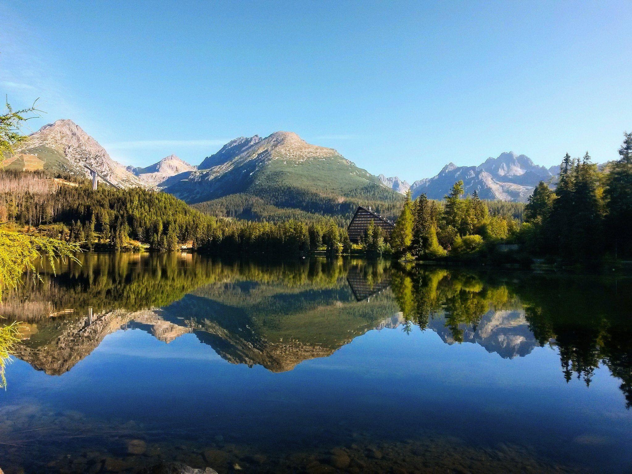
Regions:
<instances>
[{"instance_id":1,"label":"reflection in the lake of the right shore's trees","mask_svg":"<svg viewBox=\"0 0 632 474\"><path fill-rule=\"evenodd\" d=\"M631 406L632 279L422 268L392 270L391 283L406 324L426 329L442 319L457 343L490 312L523 312L538 345L559 350L567 381L576 376L590 386L605 364Z\"/></svg>"}]
</instances>

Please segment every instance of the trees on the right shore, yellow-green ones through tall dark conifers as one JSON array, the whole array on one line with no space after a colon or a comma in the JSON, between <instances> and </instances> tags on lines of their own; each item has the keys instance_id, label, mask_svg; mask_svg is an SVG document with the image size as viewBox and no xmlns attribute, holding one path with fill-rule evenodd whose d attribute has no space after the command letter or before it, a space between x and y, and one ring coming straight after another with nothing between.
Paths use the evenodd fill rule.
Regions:
<instances>
[{"instance_id":1,"label":"trees on the right shore, yellow-green ones through tall dark conifers","mask_svg":"<svg viewBox=\"0 0 632 474\"><path fill-rule=\"evenodd\" d=\"M422 260L480 258L499 243L514 243L528 262L533 257L562 264L630 258L632 133L625 134L619 155L601 171L588 152L581 159L566 154L556 190L540 181L523 209L517 203L484 202L476 191L463 199L461 180L443 205L425 193L413 201L409 191L391 234L392 252Z\"/></svg>"}]
</instances>

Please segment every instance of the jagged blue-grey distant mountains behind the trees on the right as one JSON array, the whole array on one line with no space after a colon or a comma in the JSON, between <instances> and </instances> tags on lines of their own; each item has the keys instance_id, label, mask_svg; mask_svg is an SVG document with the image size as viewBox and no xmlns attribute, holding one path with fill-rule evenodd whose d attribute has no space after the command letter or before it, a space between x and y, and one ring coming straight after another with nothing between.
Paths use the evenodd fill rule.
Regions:
<instances>
[{"instance_id":1,"label":"jagged blue-grey distant mountains behind the trees on the right","mask_svg":"<svg viewBox=\"0 0 632 474\"><path fill-rule=\"evenodd\" d=\"M526 202L540 181L554 181L555 171L556 167L538 166L525 155L505 152L479 166L449 163L437 176L415 181L410 188L413 198L426 193L428 198L442 199L462 179L466 194L477 191L482 199Z\"/></svg>"}]
</instances>

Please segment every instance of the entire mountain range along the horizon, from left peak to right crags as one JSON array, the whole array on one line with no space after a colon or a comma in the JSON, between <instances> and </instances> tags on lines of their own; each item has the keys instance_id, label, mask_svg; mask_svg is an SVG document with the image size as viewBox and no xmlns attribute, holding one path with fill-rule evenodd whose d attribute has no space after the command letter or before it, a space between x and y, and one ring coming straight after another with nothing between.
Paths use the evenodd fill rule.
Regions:
<instances>
[{"instance_id":1,"label":"entire mountain range along the horizon, from left peak to right crags","mask_svg":"<svg viewBox=\"0 0 632 474\"><path fill-rule=\"evenodd\" d=\"M68 119L45 125L29 138L4 161L5 168L87 176L87 165L123 187L159 188L209 214L246 219L348 217L357 205L395 217L408 190L413 198L426 193L441 199L459 179L466 194L525 202L539 181L554 183L559 171L505 152L478 166L451 162L436 176L409 184L397 176L374 176L336 150L289 131L236 138L198 166L169 155L147 167L126 167Z\"/></svg>"}]
</instances>

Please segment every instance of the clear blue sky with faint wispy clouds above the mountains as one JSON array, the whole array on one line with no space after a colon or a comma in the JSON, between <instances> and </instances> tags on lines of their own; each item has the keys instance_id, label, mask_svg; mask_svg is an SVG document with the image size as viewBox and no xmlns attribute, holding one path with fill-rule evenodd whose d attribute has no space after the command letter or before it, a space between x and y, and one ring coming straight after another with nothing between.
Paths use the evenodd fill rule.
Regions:
<instances>
[{"instance_id":1,"label":"clear blue sky with faint wispy clouds above the mountains","mask_svg":"<svg viewBox=\"0 0 632 474\"><path fill-rule=\"evenodd\" d=\"M513 151L617 158L632 1L0 0L0 94L114 159L294 131L409 182Z\"/></svg>"}]
</instances>

